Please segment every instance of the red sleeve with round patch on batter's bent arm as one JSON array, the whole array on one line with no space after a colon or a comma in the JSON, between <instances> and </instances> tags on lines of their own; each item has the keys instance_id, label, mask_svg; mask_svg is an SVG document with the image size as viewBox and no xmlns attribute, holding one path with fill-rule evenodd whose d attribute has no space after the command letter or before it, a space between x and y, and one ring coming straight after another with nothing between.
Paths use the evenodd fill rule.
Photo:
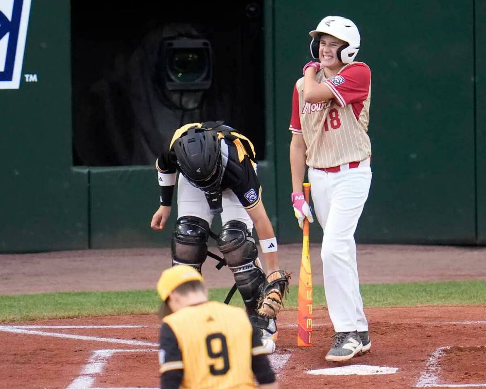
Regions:
<instances>
[{"instance_id":1,"label":"red sleeve with round patch on batter's bent arm","mask_svg":"<svg viewBox=\"0 0 486 389\"><path fill-rule=\"evenodd\" d=\"M371 71L364 63L348 66L341 73L336 74L326 84L334 94L340 106L358 103L366 100L369 93Z\"/></svg>"}]
</instances>

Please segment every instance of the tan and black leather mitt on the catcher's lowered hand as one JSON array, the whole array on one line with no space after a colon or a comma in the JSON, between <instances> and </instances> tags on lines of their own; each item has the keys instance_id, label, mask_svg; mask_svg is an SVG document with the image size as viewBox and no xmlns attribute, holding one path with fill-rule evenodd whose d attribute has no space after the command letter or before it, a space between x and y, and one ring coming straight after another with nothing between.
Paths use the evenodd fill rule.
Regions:
<instances>
[{"instance_id":1,"label":"tan and black leather mitt on the catcher's lowered hand","mask_svg":"<svg viewBox=\"0 0 486 389\"><path fill-rule=\"evenodd\" d=\"M269 274L261 292L257 313L265 318L276 318L283 306L283 297L289 291L290 273L277 270Z\"/></svg>"}]
</instances>

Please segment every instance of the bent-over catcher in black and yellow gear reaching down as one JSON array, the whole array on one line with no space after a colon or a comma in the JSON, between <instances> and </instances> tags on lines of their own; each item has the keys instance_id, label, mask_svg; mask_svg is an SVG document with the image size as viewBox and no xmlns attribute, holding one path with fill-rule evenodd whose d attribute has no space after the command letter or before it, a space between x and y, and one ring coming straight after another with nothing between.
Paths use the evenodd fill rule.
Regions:
<instances>
[{"instance_id":1,"label":"bent-over catcher in black and yellow gear reaching down","mask_svg":"<svg viewBox=\"0 0 486 389\"><path fill-rule=\"evenodd\" d=\"M216 239L252 324L263 338L277 339L275 318L288 289L289 274L278 267L277 239L261 201L253 144L223 122L191 123L174 133L156 160L160 207L150 227L163 230L177 188L177 222L172 234L172 264L201 271L208 255L208 237ZM210 230L221 213L219 235ZM265 276L253 227L260 238Z\"/></svg>"}]
</instances>

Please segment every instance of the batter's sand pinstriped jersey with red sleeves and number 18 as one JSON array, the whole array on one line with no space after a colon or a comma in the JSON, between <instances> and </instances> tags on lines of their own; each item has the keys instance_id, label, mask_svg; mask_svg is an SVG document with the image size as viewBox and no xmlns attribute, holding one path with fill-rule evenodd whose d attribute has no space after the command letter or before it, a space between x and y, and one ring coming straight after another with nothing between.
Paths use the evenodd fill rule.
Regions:
<instances>
[{"instance_id":1,"label":"batter's sand pinstriped jersey with red sleeves and number 18","mask_svg":"<svg viewBox=\"0 0 486 389\"><path fill-rule=\"evenodd\" d=\"M371 156L368 131L371 72L362 62L344 66L326 78L324 71L316 80L326 85L334 98L321 103L303 99L304 78L295 83L290 130L302 134L307 145L308 166L329 168Z\"/></svg>"}]
</instances>

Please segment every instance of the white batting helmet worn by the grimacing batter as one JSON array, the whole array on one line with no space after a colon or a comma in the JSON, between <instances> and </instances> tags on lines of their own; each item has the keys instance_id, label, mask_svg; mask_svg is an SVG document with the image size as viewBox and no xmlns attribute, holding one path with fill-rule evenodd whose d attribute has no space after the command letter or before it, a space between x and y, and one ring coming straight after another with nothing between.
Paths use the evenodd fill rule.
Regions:
<instances>
[{"instance_id":1,"label":"white batting helmet worn by the grimacing batter","mask_svg":"<svg viewBox=\"0 0 486 389\"><path fill-rule=\"evenodd\" d=\"M354 60L361 42L356 24L341 16L327 16L322 19L316 29L309 33L312 36L311 54L314 59L319 59L319 40L323 34L335 36L347 43L337 51L337 57L341 62L348 64Z\"/></svg>"}]
</instances>

